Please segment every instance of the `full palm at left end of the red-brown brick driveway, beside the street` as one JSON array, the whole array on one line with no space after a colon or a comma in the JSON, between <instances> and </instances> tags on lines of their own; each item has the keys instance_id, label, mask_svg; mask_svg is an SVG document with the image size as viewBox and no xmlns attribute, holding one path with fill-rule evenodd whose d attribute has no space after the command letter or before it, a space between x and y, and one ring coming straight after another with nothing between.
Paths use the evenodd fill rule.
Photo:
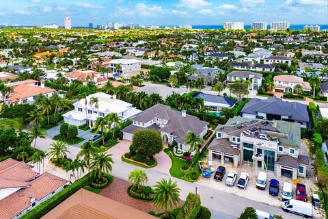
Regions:
<instances>
[{"instance_id":1,"label":"full palm at left end of the red-brown brick driveway, beside the street","mask_svg":"<svg viewBox=\"0 0 328 219\"><path fill-rule=\"evenodd\" d=\"M96 177L96 179L102 179L104 173L109 174L112 170L111 164L113 163L111 154L108 154L105 151L94 154L90 164L90 168L94 170L94 177Z\"/></svg>"}]
</instances>

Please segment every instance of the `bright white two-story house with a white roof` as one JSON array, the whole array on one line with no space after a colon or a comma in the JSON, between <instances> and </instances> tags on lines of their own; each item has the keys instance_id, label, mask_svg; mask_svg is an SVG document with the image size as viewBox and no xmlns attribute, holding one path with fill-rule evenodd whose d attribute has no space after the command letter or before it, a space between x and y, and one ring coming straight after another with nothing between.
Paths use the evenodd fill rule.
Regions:
<instances>
[{"instance_id":1,"label":"bright white two-story house with a white roof","mask_svg":"<svg viewBox=\"0 0 328 219\"><path fill-rule=\"evenodd\" d=\"M98 103L91 103L92 99L98 99ZM103 92L91 94L86 97L86 101L81 99L73 105L74 110L63 115L65 123L76 126L87 124L90 128L94 126L98 117L105 117L107 114L115 113L124 121L141 112L131 103L118 100L115 95L111 96Z\"/></svg>"}]
</instances>

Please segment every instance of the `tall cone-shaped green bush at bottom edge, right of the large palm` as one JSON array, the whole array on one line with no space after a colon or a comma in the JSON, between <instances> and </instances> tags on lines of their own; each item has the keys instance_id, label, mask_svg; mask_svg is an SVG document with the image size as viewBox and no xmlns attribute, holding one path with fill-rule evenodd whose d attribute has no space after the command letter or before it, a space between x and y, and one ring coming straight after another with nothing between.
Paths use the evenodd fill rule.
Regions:
<instances>
[{"instance_id":1,"label":"tall cone-shaped green bush at bottom edge, right of the large palm","mask_svg":"<svg viewBox=\"0 0 328 219\"><path fill-rule=\"evenodd\" d=\"M200 195L189 193L176 219L196 219L200 209Z\"/></svg>"}]
</instances>

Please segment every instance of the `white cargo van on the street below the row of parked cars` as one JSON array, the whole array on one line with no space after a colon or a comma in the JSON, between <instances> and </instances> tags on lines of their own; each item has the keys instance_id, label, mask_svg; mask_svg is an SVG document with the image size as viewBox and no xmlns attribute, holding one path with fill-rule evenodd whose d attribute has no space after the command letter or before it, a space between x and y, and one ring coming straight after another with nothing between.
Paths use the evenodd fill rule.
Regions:
<instances>
[{"instance_id":1,"label":"white cargo van on the street below the row of parked cars","mask_svg":"<svg viewBox=\"0 0 328 219\"><path fill-rule=\"evenodd\" d=\"M305 218L313 217L312 204L305 203L304 201L299 201L296 199L284 201L282 203L282 209L286 212L304 216Z\"/></svg>"}]
</instances>

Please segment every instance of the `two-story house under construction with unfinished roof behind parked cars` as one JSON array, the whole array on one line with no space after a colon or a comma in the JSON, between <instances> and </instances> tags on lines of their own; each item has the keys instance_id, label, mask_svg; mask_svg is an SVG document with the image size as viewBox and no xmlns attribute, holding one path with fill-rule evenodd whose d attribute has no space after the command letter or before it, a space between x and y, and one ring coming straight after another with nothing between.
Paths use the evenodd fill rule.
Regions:
<instances>
[{"instance_id":1,"label":"two-story house under construction with unfinished roof behind parked cars","mask_svg":"<svg viewBox=\"0 0 328 219\"><path fill-rule=\"evenodd\" d=\"M277 177L306 177L307 155L301 154L301 127L281 120L254 120L235 116L216 129L208 159L237 167L274 172Z\"/></svg>"}]
</instances>

